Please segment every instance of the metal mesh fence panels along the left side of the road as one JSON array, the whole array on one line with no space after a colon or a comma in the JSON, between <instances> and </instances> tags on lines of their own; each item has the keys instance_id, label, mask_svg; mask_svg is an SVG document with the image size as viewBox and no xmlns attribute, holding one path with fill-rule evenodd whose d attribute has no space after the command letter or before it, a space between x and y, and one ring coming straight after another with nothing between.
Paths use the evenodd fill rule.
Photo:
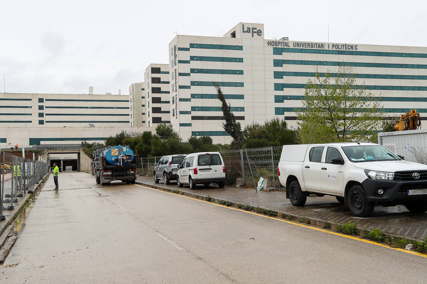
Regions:
<instances>
[{"instance_id":1,"label":"metal mesh fence panels along the left side of the road","mask_svg":"<svg viewBox=\"0 0 427 284\"><path fill-rule=\"evenodd\" d=\"M48 165L42 161L23 159L11 153L3 152L1 159L0 181L0 218L4 220L3 210L15 209L14 203L25 193L33 193L47 174Z\"/></svg>"}]
</instances>

